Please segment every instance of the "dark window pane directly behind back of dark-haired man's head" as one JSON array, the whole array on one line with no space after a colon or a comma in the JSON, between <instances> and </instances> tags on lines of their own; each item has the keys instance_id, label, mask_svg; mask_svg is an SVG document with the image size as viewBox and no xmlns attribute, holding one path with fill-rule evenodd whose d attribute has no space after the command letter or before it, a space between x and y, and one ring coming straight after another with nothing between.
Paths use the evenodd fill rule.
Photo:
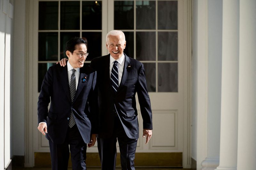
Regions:
<instances>
[{"instance_id":1,"label":"dark window pane directly behind back of dark-haired man's head","mask_svg":"<svg viewBox=\"0 0 256 170\"><path fill-rule=\"evenodd\" d=\"M66 42L72 37L80 37L79 32L61 32L60 33L60 59L68 58L66 55Z\"/></svg>"}]
</instances>

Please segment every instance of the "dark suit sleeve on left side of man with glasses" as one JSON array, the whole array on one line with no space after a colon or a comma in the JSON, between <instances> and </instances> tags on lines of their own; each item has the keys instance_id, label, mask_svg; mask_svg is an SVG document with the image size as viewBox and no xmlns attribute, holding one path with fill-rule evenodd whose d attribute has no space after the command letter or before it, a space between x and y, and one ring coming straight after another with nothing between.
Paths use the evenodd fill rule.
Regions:
<instances>
[{"instance_id":1,"label":"dark suit sleeve on left side of man with glasses","mask_svg":"<svg viewBox=\"0 0 256 170\"><path fill-rule=\"evenodd\" d=\"M52 68L50 67L44 76L41 86L41 92L38 97L37 114L38 124L40 122L47 122L48 105L52 94Z\"/></svg>"}]
</instances>

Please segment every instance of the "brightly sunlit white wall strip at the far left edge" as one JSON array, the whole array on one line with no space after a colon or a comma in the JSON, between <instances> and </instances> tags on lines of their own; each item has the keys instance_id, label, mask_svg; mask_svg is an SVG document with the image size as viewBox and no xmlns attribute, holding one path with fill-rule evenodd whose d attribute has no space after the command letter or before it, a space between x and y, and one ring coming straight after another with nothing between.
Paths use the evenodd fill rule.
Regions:
<instances>
[{"instance_id":1,"label":"brightly sunlit white wall strip at the far left edge","mask_svg":"<svg viewBox=\"0 0 256 170\"><path fill-rule=\"evenodd\" d=\"M10 61L12 57L13 5L0 0L0 169L11 161Z\"/></svg>"}]
</instances>

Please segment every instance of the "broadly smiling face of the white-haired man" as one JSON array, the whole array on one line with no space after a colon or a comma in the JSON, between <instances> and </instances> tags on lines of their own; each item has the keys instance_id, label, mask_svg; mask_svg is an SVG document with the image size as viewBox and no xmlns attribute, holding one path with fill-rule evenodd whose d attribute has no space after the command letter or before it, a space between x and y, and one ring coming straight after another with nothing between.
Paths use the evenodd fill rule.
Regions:
<instances>
[{"instance_id":1,"label":"broadly smiling face of the white-haired man","mask_svg":"<svg viewBox=\"0 0 256 170\"><path fill-rule=\"evenodd\" d=\"M117 60L124 53L126 41L122 40L120 35L109 35L106 43L108 52L110 55Z\"/></svg>"}]
</instances>

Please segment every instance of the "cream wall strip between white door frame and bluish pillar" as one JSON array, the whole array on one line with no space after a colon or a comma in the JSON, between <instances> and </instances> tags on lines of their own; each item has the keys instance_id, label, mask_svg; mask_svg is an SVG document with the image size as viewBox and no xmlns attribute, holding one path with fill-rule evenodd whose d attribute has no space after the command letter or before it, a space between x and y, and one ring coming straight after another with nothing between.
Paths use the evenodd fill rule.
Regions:
<instances>
[{"instance_id":1,"label":"cream wall strip between white door frame and bluish pillar","mask_svg":"<svg viewBox=\"0 0 256 170\"><path fill-rule=\"evenodd\" d=\"M208 1L195 0L192 45L192 152L197 169L207 156Z\"/></svg>"}]
</instances>

